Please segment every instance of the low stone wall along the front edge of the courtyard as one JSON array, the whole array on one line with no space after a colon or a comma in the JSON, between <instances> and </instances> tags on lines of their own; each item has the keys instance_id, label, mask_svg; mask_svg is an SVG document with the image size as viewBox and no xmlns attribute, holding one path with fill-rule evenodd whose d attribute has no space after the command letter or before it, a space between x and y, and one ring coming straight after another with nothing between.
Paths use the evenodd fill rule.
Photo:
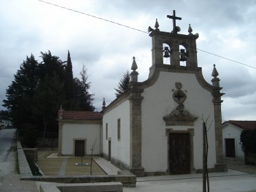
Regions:
<instances>
[{"instance_id":1,"label":"low stone wall along the front edge of the courtyard","mask_svg":"<svg viewBox=\"0 0 256 192\"><path fill-rule=\"evenodd\" d=\"M121 182L124 187L136 187L134 175L106 175L106 176L24 176L21 180L58 183L92 183L92 182Z\"/></svg>"}]
</instances>

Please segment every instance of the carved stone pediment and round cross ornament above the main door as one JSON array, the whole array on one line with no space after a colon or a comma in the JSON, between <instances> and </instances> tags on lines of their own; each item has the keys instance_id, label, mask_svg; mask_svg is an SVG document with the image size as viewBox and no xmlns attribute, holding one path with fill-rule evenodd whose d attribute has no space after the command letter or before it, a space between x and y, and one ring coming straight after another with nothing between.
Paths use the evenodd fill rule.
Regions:
<instances>
[{"instance_id":1,"label":"carved stone pediment and round cross ornament above the main door","mask_svg":"<svg viewBox=\"0 0 256 192\"><path fill-rule=\"evenodd\" d=\"M182 84L180 82L175 83L176 90L172 94L172 98L178 106L173 110L170 115L163 117L165 125L194 125L197 117L191 115L187 110L185 110L184 101L187 99L186 93L181 90Z\"/></svg>"}]
</instances>

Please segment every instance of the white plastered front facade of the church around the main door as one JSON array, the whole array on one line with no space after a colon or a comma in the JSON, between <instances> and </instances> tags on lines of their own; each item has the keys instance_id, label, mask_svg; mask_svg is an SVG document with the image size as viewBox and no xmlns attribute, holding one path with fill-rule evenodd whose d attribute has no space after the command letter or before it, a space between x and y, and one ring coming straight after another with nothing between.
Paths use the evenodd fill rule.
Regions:
<instances>
[{"instance_id":1,"label":"white plastered front facade of the church around the main door","mask_svg":"<svg viewBox=\"0 0 256 192\"><path fill-rule=\"evenodd\" d=\"M185 110L191 115L199 117L191 126L166 126L163 117L170 115L178 104L172 98L175 83L181 82L182 90L187 94L183 103ZM160 72L158 80L145 88L142 96L142 166L145 171L167 171L168 169L168 136L166 129L187 130L194 129L194 167L202 169L202 116L208 119L211 128L208 132L209 157L208 167L213 168L216 163L216 142L214 131L213 97L202 88L196 75L190 73Z\"/></svg>"}]
</instances>

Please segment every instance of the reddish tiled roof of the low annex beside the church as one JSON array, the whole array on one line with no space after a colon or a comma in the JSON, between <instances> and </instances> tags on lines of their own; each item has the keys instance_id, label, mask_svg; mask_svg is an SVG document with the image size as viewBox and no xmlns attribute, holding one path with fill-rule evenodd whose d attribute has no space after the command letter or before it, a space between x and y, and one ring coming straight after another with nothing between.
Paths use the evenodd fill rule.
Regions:
<instances>
[{"instance_id":1,"label":"reddish tiled roof of the low annex beside the church","mask_svg":"<svg viewBox=\"0 0 256 192\"><path fill-rule=\"evenodd\" d=\"M60 115L60 112L59 112ZM59 116L60 119L60 116ZM102 121L101 112L62 110L62 120L70 121Z\"/></svg>"}]
</instances>

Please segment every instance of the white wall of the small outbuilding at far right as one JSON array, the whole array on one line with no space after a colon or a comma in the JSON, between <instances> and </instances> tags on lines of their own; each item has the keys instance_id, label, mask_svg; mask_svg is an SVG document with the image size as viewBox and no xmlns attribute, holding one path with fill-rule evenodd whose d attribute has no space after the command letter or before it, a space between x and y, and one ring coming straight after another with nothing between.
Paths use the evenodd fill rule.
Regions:
<instances>
[{"instance_id":1,"label":"white wall of the small outbuilding at far right","mask_svg":"<svg viewBox=\"0 0 256 192\"><path fill-rule=\"evenodd\" d=\"M226 156L226 143L225 139L235 139L235 159L244 160L244 152L242 150L242 143L240 141L240 134L242 129L237 128L234 125L227 124L222 129L222 138L223 138L223 154Z\"/></svg>"}]
</instances>

